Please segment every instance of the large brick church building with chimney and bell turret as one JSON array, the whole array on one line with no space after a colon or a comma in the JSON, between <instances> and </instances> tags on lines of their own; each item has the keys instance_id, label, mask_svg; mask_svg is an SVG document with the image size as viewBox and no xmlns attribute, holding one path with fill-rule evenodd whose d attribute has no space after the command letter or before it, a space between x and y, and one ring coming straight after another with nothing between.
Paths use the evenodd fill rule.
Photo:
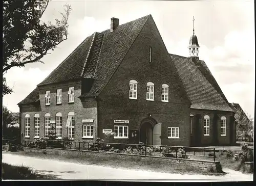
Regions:
<instances>
[{"instance_id":1,"label":"large brick church building with chimney and bell turret","mask_svg":"<svg viewBox=\"0 0 256 186\"><path fill-rule=\"evenodd\" d=\"M230 145L233 109L204 61L195 34L188 58L169 54L151 15L87 37L21 102L23 140Z\"/></svg>"}]
</instances>

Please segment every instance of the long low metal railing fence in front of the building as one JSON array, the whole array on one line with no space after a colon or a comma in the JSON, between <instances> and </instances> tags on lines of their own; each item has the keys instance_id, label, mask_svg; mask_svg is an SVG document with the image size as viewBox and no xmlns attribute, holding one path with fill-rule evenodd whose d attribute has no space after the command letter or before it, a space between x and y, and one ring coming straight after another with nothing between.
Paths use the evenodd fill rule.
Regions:
<instances>
[{"instance_id":1,"label":"long low metal railing fence in front of the building","mask_svg":"<svg viewBox=\"0 0 256 186\"><path fill-rule=\"evenodd\" d=\"M162 156L175 158L190 158L194 160L216 159L215 148L209 147L186 147L167 145L144 145L144 144L123 144L123 143L95 143L48 140L47 142L25 141L25 147L46 149L46 147L76 149L79 151L89 150L98 152L112 152L119 154L131 154L142 156Z\"/></svg>"}]
</instances>

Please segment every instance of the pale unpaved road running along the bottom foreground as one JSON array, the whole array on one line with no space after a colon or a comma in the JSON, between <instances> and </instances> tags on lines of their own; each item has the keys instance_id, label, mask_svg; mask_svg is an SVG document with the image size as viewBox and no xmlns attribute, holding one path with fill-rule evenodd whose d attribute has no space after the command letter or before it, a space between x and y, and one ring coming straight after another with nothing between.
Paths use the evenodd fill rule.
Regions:
<instances>
[{"instance_id":1,"label":"pale unpaved road running along the bottom foreground","mask_svg":"<svg viewBox=\"0 0 256 186\"><path fill-rule=\"evenodd\" d=\"M22 156L3 152L3 163L11 165L24 165L34 169L39 174L55 175L60 179L97 179L97 180L253 180L252 174L242 174L238 171L224 169L228 174L224 176L168 174L150 171L117 169L96 165L63 162L57 160L41 159L37 157Z\"/></svg>"}]
</instances>

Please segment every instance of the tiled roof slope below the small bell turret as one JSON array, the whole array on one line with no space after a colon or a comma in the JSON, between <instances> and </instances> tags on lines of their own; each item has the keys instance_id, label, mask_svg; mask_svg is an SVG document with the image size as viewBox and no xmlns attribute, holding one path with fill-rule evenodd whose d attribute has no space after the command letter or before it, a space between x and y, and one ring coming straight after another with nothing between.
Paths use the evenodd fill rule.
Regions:
<instances>
[{"instance_id":1,"label":"tiled roof slope below the small bell turret","mask_svg":"<svg viewBox=\"0 0 256 186\"><path fill-rule=\"evenodd\" d=\"M170 57L191 100L191 109L234 112L204 61L173 54Z\"/></svg>"}]
</instances>

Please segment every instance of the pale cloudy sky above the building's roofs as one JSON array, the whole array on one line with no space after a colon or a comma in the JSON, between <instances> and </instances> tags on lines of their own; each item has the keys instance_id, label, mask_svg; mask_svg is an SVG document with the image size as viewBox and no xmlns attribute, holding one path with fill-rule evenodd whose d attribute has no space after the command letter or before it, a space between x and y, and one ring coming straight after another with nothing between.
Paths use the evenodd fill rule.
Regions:
<instances>
[{"instance_id":1,"label":"pale cloudy sky above the building's roofs","mask_svg":"<svg viewBox=\"0 0 256 186\"><path fill-rule=\"evenodd\" d=\"M254 1L51 1L42 21L60 18L70 4L68 40L60 43L42 63L13 67L5 77L14 93L3 105L19 112L17 103L43 81L89 35L151 14L170 54L188 57L189 38L195 34L204 60L229 102L239 103L254 117L255 35Z\"/></svg>"}]
</instances>

